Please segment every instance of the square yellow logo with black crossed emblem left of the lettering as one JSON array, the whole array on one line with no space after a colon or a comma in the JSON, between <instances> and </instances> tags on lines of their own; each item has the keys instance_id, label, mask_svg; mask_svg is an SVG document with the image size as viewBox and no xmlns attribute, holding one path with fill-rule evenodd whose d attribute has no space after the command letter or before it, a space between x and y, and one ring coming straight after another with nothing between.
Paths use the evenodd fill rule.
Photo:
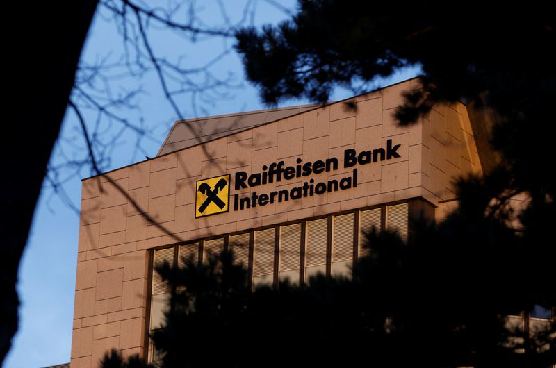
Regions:
<instances>
[{"instance_id":1,"label":"square yellow logo with black crossed emblem left of the lettering","mask_svg":"<svg viewBox=\"0 0 556 368\"><path fill-rule=\"evenodd\" d=\"M195 218L228 212L229 183L229 175L197 181Z\"/></svg>"}]
</instances>

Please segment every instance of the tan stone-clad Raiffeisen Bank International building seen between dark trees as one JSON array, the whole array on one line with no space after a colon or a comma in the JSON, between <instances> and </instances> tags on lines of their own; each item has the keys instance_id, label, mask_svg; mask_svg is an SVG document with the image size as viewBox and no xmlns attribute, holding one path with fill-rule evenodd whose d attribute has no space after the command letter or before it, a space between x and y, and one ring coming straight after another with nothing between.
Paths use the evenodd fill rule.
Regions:
<instances>
[{"instance_id":1,"label":"tan stone-clad Raiffeisen Bank International building seen between dark trees","mask_svg":"<svg viewBox=\"0 0 556 368\"><path fill-rule=\"evenodd\" d=\"M442 219L457 204L452 178L496 160L491 119L455 103L400 128L393 112L418 87L354 97L357 111L340 101L176 122L155 158L83 180L72 368L113 347L152 354L169 295L153 264L233 246L253 285L303 282L345 273L366 228L407 236L413 215Z\"/></svg>"}]
</instances>

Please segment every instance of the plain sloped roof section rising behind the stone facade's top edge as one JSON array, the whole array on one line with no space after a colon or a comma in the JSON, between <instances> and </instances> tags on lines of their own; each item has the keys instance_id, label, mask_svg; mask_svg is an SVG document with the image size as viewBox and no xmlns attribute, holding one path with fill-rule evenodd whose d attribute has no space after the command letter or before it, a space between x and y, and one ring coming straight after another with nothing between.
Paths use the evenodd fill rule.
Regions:
<instances>
[{"instance_id":1,"label":"plain sloped roof section rising behind the stone facade's top edge","mask_svg":"<svg viewBox=\"0 0 556 368\"><path fill-rule=\"evenodd\" d=\"M288 106L268 110L177 120L156 156L164 155L224 135L230 135L265 123L299 114L318 105Z\"/></svg>"}]
</instances>

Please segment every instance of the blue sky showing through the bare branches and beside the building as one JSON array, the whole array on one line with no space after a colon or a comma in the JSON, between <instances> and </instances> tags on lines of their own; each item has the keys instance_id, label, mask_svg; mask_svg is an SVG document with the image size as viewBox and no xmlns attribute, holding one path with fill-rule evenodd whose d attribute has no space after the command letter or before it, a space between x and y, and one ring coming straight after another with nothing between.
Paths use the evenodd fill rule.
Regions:
<instances>
[{"instance_id":1,"label":"blue sky showing through the bare branches and beside the building","mask_svg":"<svg viewBox=\"0 0 556 368\"><path fill-rule=\"evenodd\" d=\"M197 4L197 14L206 24L219 24L225 19L226 13L231 22L243 16L243 7L233 6L220 11L215 4L203 1ZM215 2L215 3L218 3ZM275 6L274 1L250 1L252 6L247 22L256 26L276 24L286 19L288 14ZM229 3L227 3L229 4ZM281 0L281 6L294 10L294 0ZM235 20L234 20L235 19ZM218 54L222 48L230 47L233 40L224 41L213 38L186 42L183 44L179 36L168 35L162 29L152 28L152 45L157 53L167 58L185 55L188 65L203 65ZM118 60L122 55L122 36L115 23L108 17L108 12L99 10L93 19L88 40L83 49L81 59L88 65L97 60ZM231 51L227 56L211 66L211 72L218 78L231 78L235 86L225 91L225 98L207 95L206 101L193 99L190 95L179 97L177 102L183 117L220 115L238 111L258 110L267 108L257 94L255 87L245 81L240 58ZM406 69L382 81L379 85L389 85L411 78L418 74L418 68ZM204 78L200 76L199 78ZM117 78L115 78L117 79ZM122 78L115 81L114 90L122 93L136 87L136 79ZM142 151L137 151L136 136L129 131L124 132L110 150L104 151L109 160L101 162L101 170L106 172L117 167L129 165L145 159L145 156L156 156L176 114L161 93L160 83L153 73L146 73L140 80L143 93L134 101L139 109L123 110L122 116L131 122L143 124L150 132L149 139L141 143ZM350 91L337 90L332 101L350 97ZM280 106L293 106L309 101L285 101ZM94 124L95 115L87 112L88 124ZM114 134L113 127L106 134ZM92 128L92 125L90 126ZM67 112L60 139L51 156L51 165L58 166L73 159L83 157L85 146L79 131L78 121L72 112ZM77 261L77 242L79 235L79 213L72 206L79 208L81 198L81 179L94 174L90 167L76 168L62 165L60 177L65 181L63 193L56 193L49 185L44 185L38 206L35 208L33 224L19 266L17 291L21 306L19 307L19 330L13 339L3 367L26 368L45 367L70 362L72 343L72 319L74 309L74 290ZM70 204L72 203L72 204Z\"/></svg>"}]
</instances>

